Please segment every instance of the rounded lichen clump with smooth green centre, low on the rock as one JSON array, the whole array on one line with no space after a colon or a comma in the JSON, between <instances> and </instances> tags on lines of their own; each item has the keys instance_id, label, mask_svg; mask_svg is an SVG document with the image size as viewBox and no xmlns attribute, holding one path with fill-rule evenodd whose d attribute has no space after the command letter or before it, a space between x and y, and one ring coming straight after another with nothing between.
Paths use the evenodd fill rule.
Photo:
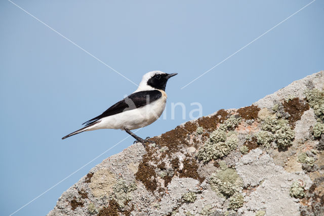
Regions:
<instances>
[{"instance_id":1,"label":"rounded lichen clump with smooth green centre, low on the rock","mask_svg":"<svg viewBox=\"0 0 324 216\"><path fill-rule=\"evenodd\" d=\"M242 179L235 169L223 168L211 175L209 184L214 191L219 191L224 196L229 197L242 187Z\"/></svg>"}]
</instances>

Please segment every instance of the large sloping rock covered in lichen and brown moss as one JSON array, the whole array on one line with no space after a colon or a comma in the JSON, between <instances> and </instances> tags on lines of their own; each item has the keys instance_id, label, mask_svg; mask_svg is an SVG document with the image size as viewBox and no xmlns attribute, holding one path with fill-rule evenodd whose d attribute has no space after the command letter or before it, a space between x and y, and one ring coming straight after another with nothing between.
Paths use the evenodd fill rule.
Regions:
<instances>
[{"instance_id":1,"label":"large sloping rock covered in lichen and brown moss","mask_svg":"<svg viewBox=\"0 0 324 216\"><path fill-rule=\"evenodd\" d=\"M92 168L49 215L324 215L324 71Z\"/></svg>"}]
</instances>

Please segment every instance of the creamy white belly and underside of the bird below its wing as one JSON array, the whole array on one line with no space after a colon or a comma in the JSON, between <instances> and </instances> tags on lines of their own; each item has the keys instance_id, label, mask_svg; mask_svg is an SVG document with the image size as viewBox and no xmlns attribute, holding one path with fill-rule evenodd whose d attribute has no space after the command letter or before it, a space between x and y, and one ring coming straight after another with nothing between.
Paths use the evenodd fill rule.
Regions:
<instances>
[{"instance_id":1,"label":"creamy white belly and underside of the bird below its wing","mask_svg":"<svg viewBox=\"0 0 324 216\"><path fill-rule=\"evenodd\" d=\"M89 130L97 130L104 128L129 130L145 127L158 119L163 113L167 102L166 94L154 102L140 107L138 109L125 111L112 116L102 118L101 121L89 128Z\"/></svg>"}]
</instances>

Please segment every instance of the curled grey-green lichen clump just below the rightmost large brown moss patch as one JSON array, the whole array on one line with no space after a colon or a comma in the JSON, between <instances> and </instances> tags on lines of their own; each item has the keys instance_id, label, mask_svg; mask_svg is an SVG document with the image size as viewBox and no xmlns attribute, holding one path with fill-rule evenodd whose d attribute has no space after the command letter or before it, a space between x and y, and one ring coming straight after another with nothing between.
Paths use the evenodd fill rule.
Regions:
<instances>
[{"instance_id":1,"label":"curled grey-green lichen clump just below the rightmost large brown moss patch","mask_svg":"<svg viewBox=\"0 0 324 216\"><path fill-rule=\"evenodd\" d=\"M277 119L268 117L261 124L261 129L272 132L273 140L277 143L279 149L285 149L292 144L295 138L295 131L289 127L289 122L286 119ZM258 135L258 134L257 134ZM269 143L271 136L264 132L259 132L259 142ZM257 138L258 139L258 138Z\"/></svg>"}]
</instances>

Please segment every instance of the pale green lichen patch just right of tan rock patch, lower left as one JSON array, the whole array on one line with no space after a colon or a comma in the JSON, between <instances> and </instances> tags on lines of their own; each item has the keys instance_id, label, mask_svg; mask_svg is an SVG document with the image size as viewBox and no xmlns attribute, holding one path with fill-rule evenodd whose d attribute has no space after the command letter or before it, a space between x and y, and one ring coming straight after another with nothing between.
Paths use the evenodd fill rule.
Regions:
<instances>
[{"instance_id":1,"label":"pale green lichen patch just right of tan rock patch, lower left","mask_svg":"<svg viewBox=\"0 0 324 216\"><path fill-rule=\"evenodd\" d=\"M119 178L117 183L112 187L112 198L116 200L120 208L124 208L125 202L133 199L132 191L136 189L136 183L128 185L125 179Z\"/></svg>"}]
</instances>

